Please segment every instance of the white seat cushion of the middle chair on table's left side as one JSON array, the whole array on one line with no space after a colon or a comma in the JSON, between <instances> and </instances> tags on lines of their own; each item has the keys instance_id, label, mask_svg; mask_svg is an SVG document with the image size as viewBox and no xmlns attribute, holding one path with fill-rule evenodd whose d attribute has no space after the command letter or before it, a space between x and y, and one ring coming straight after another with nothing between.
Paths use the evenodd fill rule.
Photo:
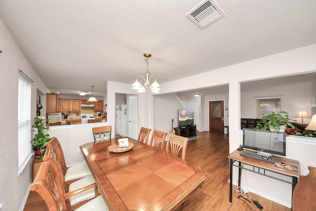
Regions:
<instances>
[{"instance_id":1,"label":"white seat cushion of the middle chair on table's left side","mask_svg":"<svg viewBox=\"0 0 316 211\"><path fill-rule=\"evenodd\" d=\"M68 190L69 192L75 191L93 183L95 183L94 178L92 175L89 175L71 183L68 187ZM83 193L79 193L76 196L70 197L69 202L71 205L75 205L79 202L82 202L84 200L91 199L94 197L95 197L94 188L91 188L87 191L84 191Z\"/></svg>"}]
</instances>

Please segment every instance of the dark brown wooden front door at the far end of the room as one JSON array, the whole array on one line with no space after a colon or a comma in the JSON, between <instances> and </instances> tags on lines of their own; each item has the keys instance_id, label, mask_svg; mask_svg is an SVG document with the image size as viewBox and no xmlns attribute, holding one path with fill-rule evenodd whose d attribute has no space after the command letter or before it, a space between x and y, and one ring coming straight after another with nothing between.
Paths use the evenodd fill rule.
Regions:
<instances>
[{"instance_id":1,"label":"dark brown wooden front door at the far end of the room","mask_svg":"<svg viewBox=\"0 0 316 211\"><path fill-rule=\"evenodd\" d=\"M209 131L224 133L224 101L209 101Z\"/></svg>"}]
</instances>

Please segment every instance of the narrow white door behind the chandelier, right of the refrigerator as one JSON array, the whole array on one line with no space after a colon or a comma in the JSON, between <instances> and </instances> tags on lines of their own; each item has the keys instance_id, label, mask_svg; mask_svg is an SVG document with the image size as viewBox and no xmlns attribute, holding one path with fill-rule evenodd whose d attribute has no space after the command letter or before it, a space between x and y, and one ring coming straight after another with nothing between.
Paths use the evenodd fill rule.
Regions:
<instances>
[{"instance_id":1,"label":"narrow white door behind the chandelier, right of the refrigerator","mask_svg":"<svg viewBox=\"0 0 316 211\"><path fill-rule=\"evenodd\" d=\"M130 95L128 97L129 110L129 132L128 136L137 140L137 95Z\"/></svg>"}]
</instances>

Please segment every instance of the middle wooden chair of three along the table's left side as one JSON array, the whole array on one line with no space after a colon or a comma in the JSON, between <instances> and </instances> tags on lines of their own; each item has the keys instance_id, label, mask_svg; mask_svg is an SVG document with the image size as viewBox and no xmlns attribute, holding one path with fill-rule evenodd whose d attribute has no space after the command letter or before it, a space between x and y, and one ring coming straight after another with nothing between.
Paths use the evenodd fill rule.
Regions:
<instances>
[{"instance_id":1,"label":"middle wooden chair of three along the table's left side","mask_svg":"<svg viewBox=\"0 0 316 211\"><path fill-rule=\"evenodd\" d=\"M62 172L62 168L60 162L58 160L58 156L53 148L47 147L45 155L43 157L43 161L49 163L51 168L55 171L56 174L59 174L61 184L64 188L64 192L73 192L77 190L81 190L85 187L90 187L91 184L95 184L95 180L93 176L90 174L81 179L73 181L72 183L66 185L65 177ZM77 194L76 196L72 196L69 198L69 202L71 206L78 207L82 204L85 204L87 200L95 198L100 195L98 192L97 185L95 184L94 189L90 188L82 193Z\"/></svg>"}]
</instances>

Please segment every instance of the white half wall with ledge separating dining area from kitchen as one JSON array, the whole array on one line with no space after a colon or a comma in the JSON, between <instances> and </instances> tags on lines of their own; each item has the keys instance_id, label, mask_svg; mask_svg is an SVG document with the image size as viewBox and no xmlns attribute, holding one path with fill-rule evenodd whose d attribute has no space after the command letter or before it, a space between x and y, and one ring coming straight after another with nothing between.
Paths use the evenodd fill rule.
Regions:
<instances>
[{"instance_id":1,"label":"white half wall with ledge separating dining area from kitchen","mask_svg":"<svg viewBox=\"0 0 316 211\"><path fill-rule=\"evenodd\" d=\"M93 142L92 127L111 126L108 122L49 126L49 137L56 137L63 149L66 166L72 166L84 161L79 146ZM112 132L115 136L115 132Z\"/></svg>"}]
</instances>

